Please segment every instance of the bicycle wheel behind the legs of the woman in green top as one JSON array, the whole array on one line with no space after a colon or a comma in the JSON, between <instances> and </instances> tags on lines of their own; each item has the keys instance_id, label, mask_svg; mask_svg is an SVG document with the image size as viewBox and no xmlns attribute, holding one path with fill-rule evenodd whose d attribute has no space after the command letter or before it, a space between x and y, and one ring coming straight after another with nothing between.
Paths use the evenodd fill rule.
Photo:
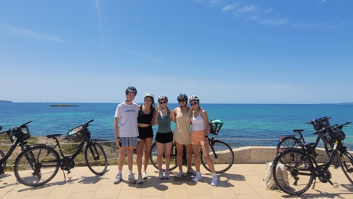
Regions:
<instances>
[{"instance_id":1,"label":"bicycle wheel behind the legs of the woman in green top","mask_svg":"<svg viewBox=\"0 0 353 199\"><path fill-rule=\"evenodd\" d=\"M172 149L170 150L170 163L169 163L169 171L174 170L175 168L178 167L177 163L177 147L175 147L175 144L173 143ZM158 162L157 162L157 145L156 143L153 143L151 145L151 150L150 150L150 162L151 164L158 169ZM166 170L166 156L164 155L164 150L163 150L163 157L162 157L162 170Z\"/></svg>"}]
</instances>

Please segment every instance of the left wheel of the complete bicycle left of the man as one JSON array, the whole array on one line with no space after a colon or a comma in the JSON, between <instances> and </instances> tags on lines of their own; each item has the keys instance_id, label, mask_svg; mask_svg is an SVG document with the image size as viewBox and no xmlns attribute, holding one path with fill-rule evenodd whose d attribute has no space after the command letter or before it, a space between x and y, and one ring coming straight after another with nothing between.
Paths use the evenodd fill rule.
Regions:
<instances>
[{"instance_id":1,"label":"left wheel of the complete bicycle left of the man","mask_svg":"<svg viewBox=\"0 0 353 199\"><path fill-rule=\"evenodd\" d=\"M44 185L58 173L59 161L59 155L52 147L30 147L16 158L14 165L16 179L26 186Z\"/></svg>"}]
</instances>

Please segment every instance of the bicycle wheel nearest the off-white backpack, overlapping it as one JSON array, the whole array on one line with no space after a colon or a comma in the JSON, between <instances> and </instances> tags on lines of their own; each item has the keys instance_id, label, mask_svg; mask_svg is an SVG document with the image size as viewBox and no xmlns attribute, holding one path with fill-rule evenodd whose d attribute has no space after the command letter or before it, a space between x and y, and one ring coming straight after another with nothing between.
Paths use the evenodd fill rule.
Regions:
<instances>
[{"instance_id":1,"label":"bicycle wheel nearest the off-white backpack, overlapping it","mask_svg":"<svg viewBox=\"0 0 353 199\"><path fill-rule=\"evenodd\" d=\"M304 156L305 154L299 150L291 150L280 153L274 159L274 165L272 170L273 178L277 187L281 191L289 195L300 195L306 192L312 185L312 181L314 179L314 172L301 170L314 168L311 159L307 158L304 160L303 163L299 165L300 167L295 167L296 164L300 163ZM283 177L286 176L282 175L277 177L277 172L280 169L279 163L284 164L288 173L288 183L286 183L284 187L281 185L280 181L283 182ZM304 173L309 175L300 175Z\"/></svg>"}]
</instances>

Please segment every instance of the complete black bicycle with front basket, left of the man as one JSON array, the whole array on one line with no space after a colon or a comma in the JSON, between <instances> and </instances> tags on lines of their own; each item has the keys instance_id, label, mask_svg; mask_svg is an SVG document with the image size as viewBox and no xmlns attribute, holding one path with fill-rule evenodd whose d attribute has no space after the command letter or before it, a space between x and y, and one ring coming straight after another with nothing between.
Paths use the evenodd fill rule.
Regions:
<instances>
[{"instance_id":1,"label":"complete black bicycle with front basket, left of the man","mask_svg":"<svg viewBox=\"0 0 353 199\"><path fill-rule=\"evenodd\" d=\"M58 173L59 167L62 169L64 176L64 170L68 171L67 174L69 174L70 170L75 166L74 158L79 155L85 143L84 157L86 165L92 173L103 175L107 170L108 159L103 147L90 139L91 133L87 127L92 121L83 123L67 132L66 136L68 138L76 142L81 141L76 152L71 155L65 156L61 150L57 139L61 134L47 135L47 138L53 138L56 141L54 147L40 144L29 146L20 153L14 165L14 173L17 180L24 185L36 187L52 180ZM55 150L56 146L59 147L61 159Z\"/></svg>"}]
</instances>

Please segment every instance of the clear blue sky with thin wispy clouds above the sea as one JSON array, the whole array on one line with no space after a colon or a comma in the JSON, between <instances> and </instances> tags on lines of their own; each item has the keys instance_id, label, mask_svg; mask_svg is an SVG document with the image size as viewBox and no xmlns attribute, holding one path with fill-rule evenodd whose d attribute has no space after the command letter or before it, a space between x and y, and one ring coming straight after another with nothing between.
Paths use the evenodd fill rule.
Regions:
<instances>
[{"instance_id":1,"label":"clear blue sky with thin wispy clouds above the sea","mask_svg":"<svg viewBox=\"0 0 353 199\"><path fill-rule=\"evenodd\" d=\"M352 102L353 0L0 1L0 100ZM175 102L174 102L175 101Z\"/></svg>"}]
</instances>

